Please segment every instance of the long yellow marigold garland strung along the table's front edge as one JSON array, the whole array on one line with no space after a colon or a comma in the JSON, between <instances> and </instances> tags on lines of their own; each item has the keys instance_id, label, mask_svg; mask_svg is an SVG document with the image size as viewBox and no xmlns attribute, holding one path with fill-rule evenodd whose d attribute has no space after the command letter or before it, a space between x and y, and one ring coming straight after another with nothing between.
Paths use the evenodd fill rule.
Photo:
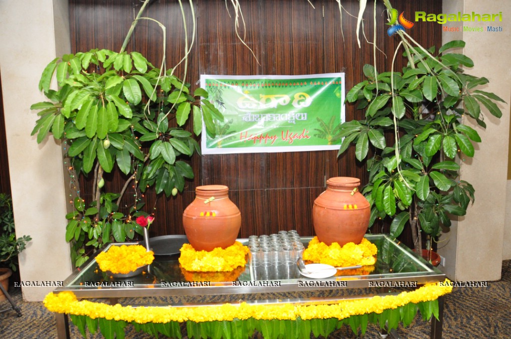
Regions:
<instances>
[{"instance_id":1,"label":"long yellow marigold garland strung along the table's front edge","mask_svg":"<svg viewBox=\"0 0 511 339\"><path fill-rule=\"evenodd\" d=\"M399 295L375 296L367 299L340 300L333 304L300 305L282 304L223 304L206 307L175 307L175 306L122 306L109 305L88 300L78 301L73 292L50 293L44 298L44 306L52 312L77 316L88 316L92 319L123 320L126 322L168 323L171 321L197 323L206 321L232 321L249 318L260 320L303 320L309 319L345 319L355 315L375 312L380 314L385 309L397 308L408 303L432 301L440 296L451 293L452 286L448 279L443 285L430 283L421 288L402 292Z\"/></svg>"}]
</instances>

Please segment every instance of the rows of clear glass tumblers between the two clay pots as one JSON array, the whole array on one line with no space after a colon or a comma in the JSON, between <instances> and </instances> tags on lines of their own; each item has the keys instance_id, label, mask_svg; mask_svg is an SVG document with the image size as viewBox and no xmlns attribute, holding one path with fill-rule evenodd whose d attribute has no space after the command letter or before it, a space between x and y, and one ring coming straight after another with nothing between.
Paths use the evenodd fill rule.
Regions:
<instances>
[{"instance_id":1,"label":"rows of clear glass tumblers between the two clay pots","mask_svg":"<svg viewBox=\"0 0 511 339\"><path fill-rule=\"evenodd\" d=\"M248 237L250 270L254 280L294 279L300 276L296 260L304 253L297 231Z\"/></svg>"}]
</instances>

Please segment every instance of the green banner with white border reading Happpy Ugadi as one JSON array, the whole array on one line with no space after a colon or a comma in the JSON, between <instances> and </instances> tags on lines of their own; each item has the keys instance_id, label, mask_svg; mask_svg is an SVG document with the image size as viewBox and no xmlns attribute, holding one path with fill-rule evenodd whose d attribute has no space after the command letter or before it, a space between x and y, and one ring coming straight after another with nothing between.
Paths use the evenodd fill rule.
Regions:
<instances>
[{"instance_id":1,"label":"green banner with white border reading Happpy Ugadi","mask_svg":"<svg viewBox=\"0 0 511 339\"><path fill-rule=\"evenodd\" d=\"M201 87L224 115L214 138L202 134L203 154L339 149L344 73L201 75Z\"/></svg>"}]
</instances>

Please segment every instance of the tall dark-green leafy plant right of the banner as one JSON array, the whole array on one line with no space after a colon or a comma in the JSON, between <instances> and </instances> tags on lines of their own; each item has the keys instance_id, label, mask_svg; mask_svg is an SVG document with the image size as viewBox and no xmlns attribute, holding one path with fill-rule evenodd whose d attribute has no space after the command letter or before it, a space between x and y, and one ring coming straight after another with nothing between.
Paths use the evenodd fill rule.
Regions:
<instances>
[{"instance_id":1,"label":"tall dark-green leafy plant right of the banner","mask_svg":"<svg viewBox=\"0 0 511 339\"><path fill-rule=\"evenodd\" d=\"M478 89L488 80L465 72L473 66L469 57L451 53L463 41L448 42L435 53L434 47L413 44L403 31L398 34L398 49L405 47L408 63L383 73L363 67L367 80L355 85L346 101L358 102L365 119L340 125L339 155L354 144L357 160L366 162L369 179L362 192L371 204L369 227L388 220L390 236L398 237L407 225L415 252L422 253L423 233L430 251L442 227L474 202L473 186L459 178L460 164L474 156L473 143L481 138L466 121L484 128L483 110L500 118L495 102L503 100Z\"/></svg>"}]
</instances>

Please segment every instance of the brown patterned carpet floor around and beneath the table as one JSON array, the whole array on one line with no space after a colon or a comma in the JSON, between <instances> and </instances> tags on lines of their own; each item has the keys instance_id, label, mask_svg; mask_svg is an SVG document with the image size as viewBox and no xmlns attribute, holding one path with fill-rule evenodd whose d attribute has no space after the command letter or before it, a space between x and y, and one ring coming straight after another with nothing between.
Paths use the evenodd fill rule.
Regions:
<instances>
[{"instance_id":1,"label":"brown patterned carpet floor around and beneath the table","mask_svg":"<svg viewBox=\"0 0 511 339\"><path fill-rule=\"evenodd\" d=\"M53 339L57 337L54 315L40 302L23 302L19 289L9 290L22 317L11 310L0 314L0 338ZM120 300L121 302L121 300ZM7 300L0 302L0 309L9 307ZM417 317L409 327L399 327L397 334L401 338L428 338L430 324ZM183 332L184 333L184 332ZM511 337L511 260L502 265L502 279L489 282L486 288L455 288L445 298L444 335L446 339L459 338L510 338ZM74 325L71 325L71 337L81 338ZM88 338L101 338L101 335L89 335ZM262 337L258 333L254 338ZM329 338L358 338L349 327L344 326L332 333ZM369 326L364 338L381 338L378 329ZM133 326L126 330L128 339L146 339L151 336L138 333ZM183 338L186 338L183 336Z\"/></svg>"}]
</instances>

